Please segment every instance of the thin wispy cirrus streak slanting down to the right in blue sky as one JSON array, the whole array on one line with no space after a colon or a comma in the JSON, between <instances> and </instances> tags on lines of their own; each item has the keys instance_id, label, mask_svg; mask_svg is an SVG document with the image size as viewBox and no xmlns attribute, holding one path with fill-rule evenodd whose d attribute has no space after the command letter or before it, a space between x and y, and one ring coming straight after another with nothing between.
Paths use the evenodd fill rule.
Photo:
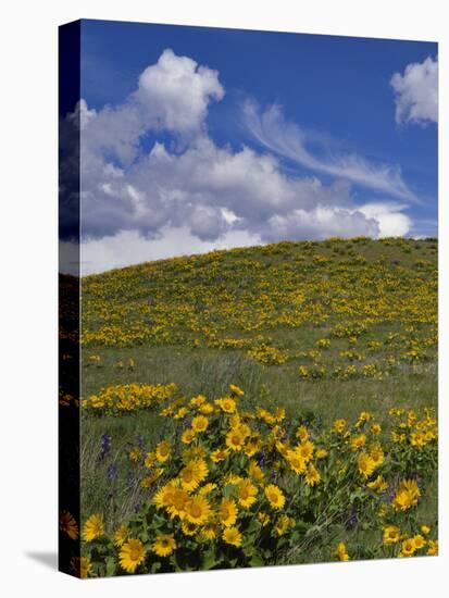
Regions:
<instances>
[{"instance_id":1,"label":"thin wispy cirrus streak slanting down to the right in blue sky","mask_svg":"<svg viewBox=\"0 0 449 598\"><path fill-rule=\"evenodd\" d=\"M420 203L403 180L399 166L373 164L354 153L335 154L328 151L327 154L315 155L308 149L311 140L308 133L297 124L287 122L279 105L274 104L261 111L255 102L248 100L244 105L244 121L252 137L277 155L311 171L345 178L375 191ZM316 136L313 140L316 140Z\"/></svg>"}]
</instances>

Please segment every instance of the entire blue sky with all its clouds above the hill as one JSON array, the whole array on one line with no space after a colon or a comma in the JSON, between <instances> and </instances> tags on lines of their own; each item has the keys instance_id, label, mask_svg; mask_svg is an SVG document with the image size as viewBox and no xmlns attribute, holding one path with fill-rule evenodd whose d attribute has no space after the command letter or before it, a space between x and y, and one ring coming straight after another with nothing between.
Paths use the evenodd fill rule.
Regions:
<instances>
[{"instance_id":1,"label":"entire blue sky with all its clouds above the hill","mask_svg":"<svg viewBox=\"0 0 449 598\"><path fill-rule=\"evenodd\" d=\"M122 180L90 180L86 166L86 253L104 258L87 259L90 270L280 237L323 238L341 233L332 226L333 210L348 236L435 236L437 53L434 42L83 21L85 154ZM172 94L171 68L179 76L186 68L184 100ZM184 110L188 117L191 109L196 125L180 116L174 124L170 102L172 116ZM101 128L122 133L105 140ZM161 165L169 160L173 180ZM150 171L158 190L146 178ZM199 173L219 171L227 179L198 183ZM264 191L273 190L260 204L258 173ZM114 213L128 189L134 203L126 210L136 217L113 223L105 210L90 213L99 188L113 198ZM170 209L161 208L162 197ZM174 211L183 217L167 215ZM117 261L130 235L136 256Z\"/></svg>"}]
</instances>

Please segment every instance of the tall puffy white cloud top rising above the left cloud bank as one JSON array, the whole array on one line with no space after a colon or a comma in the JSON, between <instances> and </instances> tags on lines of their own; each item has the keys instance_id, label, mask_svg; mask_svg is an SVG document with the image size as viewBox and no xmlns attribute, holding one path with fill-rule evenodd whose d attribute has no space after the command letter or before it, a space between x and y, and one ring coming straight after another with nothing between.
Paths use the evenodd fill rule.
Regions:
<instances>
[{"instance_id":1,"label":"tall puffy white cloud top rising above the left cloud bank","mask_svg":"<svg viewBox=\"0 0 449 598\"><path fill-rule=\"evenodd\" d=\"M122 104L97 112L80 101L83 157L107 153L130 164L151 130L173 132L188 141L203 132L211 100L223 97L216 71L166 49L141 73L137 89Z\"/></svg>"}]
</instances>

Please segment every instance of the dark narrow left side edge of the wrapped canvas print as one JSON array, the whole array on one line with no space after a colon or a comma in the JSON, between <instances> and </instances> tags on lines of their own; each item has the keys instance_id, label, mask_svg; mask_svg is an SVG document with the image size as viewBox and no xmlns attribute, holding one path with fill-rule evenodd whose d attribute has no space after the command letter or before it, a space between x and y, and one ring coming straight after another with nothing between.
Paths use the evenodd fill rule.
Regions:
<instances>
[{"instance_id":1,"label":"dark narrow left side edge of the wrapped canvas print","mask_svg":"<svg viewBox=\"0 0 449 598\"><path fill-rule=\"evenodd\" d=\"M59 569L82 576L79 470L80 22L59 28Z\"/></svg>"}]
</instances>

